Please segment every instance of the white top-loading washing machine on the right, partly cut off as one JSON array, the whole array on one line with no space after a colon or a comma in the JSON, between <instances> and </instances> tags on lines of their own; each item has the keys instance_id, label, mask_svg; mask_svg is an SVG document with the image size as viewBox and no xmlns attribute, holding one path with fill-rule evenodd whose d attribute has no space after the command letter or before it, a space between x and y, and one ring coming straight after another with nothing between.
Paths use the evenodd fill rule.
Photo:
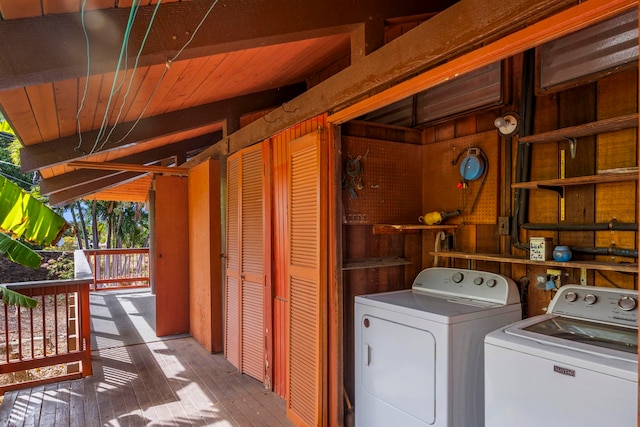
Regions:
<instances>
[{"instance_id":1,"label":"white top-loading washing machine on the right, partly cut off","mask_svg":"<svg viewBox=\"0 0 640 427\"><path fill-rule=\"evenodd\" d=\"M487 427L635 426L638 292L563 286L485 340Z\"/></svg>"}]
</instances>

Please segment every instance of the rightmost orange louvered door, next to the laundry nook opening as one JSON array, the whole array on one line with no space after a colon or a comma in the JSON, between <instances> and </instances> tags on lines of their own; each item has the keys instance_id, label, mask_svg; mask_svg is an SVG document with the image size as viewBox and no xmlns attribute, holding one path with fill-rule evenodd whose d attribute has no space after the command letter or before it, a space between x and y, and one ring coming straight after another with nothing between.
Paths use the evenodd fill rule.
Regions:
<instances>
[{"instance_id":1,"label":"rightmost orange louvered door, next to the laundry nook opening","mask_svg":"<svg viewBox=\"0 0 640 427\"><path fill-rule=\"evenodd\" d=\"M325 283L327 176L320 132L291 143L289 162L289 325L287 416L296 424L326 424ZM323 212L325 214L323 214Z\"/></svg>"}]
</instances>

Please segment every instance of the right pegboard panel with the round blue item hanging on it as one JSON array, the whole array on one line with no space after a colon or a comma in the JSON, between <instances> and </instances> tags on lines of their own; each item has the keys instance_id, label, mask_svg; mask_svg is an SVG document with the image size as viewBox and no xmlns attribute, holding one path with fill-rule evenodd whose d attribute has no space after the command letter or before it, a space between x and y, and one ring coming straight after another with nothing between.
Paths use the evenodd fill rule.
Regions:
<instances>
[{"instance_id":1,"label":"right pegboard panel with the round blue item hanging on it","mask_svg":"<svg viewBox=\"0 0 640 427\"><path fill-rule=\"evenodd\" d=\"M460 189L460 164L471 147L479 148L487 157L485 172L477 180L468 181L467 188ZM498 216L500 169L498 132L489 131L440 141L425 145L424 149L427 177L424 183L424 211L460 209L462 215L452 218L450 223L495 224Z\"/></svg>"}]
</instances>

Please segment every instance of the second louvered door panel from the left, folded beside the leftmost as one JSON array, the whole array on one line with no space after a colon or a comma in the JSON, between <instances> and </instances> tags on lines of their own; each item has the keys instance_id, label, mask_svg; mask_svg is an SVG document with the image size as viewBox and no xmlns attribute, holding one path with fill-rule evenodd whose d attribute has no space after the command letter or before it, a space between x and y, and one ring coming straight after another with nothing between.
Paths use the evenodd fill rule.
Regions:
<instances>
[{"instance_id":1,"label":"second louvered door panel from the left, folded beside the leftmost","mask_svg":"<svg viewBox=\"0 0 640 427\"><path fill-rule=\"evenodd\" d=\"M242 372L264 380L263 147L242 151Z\"/></svg>"}]
</instances>

